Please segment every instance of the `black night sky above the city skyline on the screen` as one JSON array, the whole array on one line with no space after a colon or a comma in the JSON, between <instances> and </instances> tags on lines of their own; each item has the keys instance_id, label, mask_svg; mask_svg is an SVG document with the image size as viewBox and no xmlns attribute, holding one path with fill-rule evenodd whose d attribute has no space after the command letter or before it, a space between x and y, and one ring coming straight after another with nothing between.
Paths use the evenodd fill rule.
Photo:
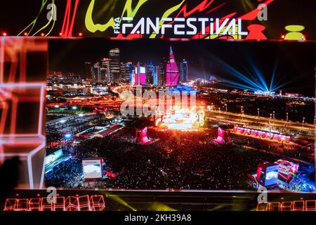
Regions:
<instances>
[{"instance_id":1,"label":"black night sky above the city skyline on the screen","mask_svg":"<svg viewBox=\"0 0 316 225\"><path fill-rule=\"evenodd\" d=\"M110 49L119 48L121 62L158 65L169 56L172 46L176 61L189 63L189 79L215 75L230 83L246 84L242 76L253 81L263 77L279 89L315 95L315 44L280 41L166 41L142 39L117 41L100 38L54 39L49 41L49 69L84 73L84 62L108 57ZM260 83L260 82L259 82Z\"/></svg>"}]
</instances>

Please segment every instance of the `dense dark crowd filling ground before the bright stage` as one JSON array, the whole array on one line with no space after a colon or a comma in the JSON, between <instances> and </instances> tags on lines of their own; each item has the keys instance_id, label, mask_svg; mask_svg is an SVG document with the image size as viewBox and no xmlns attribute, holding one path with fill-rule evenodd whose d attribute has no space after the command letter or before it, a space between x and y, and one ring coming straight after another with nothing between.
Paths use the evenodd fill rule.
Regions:
<instances>
[{"instance_id":1,"label":"dense dark crowd filling ground before the bright stage","mask_svg":"<svg viewBox=\"0 0 316 225\"><path fill-rule=\"evenodd\" d=\"M135 129L124 128L112 136L67 145L73 160L46 179L54 186L74 188L249 190L249 174L262 162L275 162L282 155L304 159L296 148L273 146L251 138L232 135L231 145L218 145L216 129L198 131L159 131L148 129L153 139L148 145L134 141ZM250 148L245 148L249 146ZM254 150L256 149L256 150ZM284 152L281 152L283 149ZM85 183L81 160L104 158L115 179Z\"/></svg>"}]
</instances>

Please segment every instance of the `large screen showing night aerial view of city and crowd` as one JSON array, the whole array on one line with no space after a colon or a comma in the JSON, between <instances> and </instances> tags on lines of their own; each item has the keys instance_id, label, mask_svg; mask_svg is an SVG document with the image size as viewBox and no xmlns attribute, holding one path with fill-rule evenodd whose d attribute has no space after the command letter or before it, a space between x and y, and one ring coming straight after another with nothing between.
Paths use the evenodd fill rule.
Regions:
<instances>
[{"instance_id":1,"label":"large screen showing night aerial view of city and crowd","mask_svg":"<svg viewBox=\"0 0 316 225\"><path fill-rule=\"evenodd\" d=\"M53 39L48 61L46 186L315 191L314 43Z\"/></svg>"}]
</instances>

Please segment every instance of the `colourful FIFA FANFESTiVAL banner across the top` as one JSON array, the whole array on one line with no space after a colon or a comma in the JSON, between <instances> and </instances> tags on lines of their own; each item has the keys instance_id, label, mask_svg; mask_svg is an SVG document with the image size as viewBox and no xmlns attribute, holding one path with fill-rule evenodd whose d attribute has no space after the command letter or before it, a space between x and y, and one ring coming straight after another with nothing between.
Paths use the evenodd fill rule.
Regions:
<instances>
[{"instance_id":1,"label":"colourful FIFA FANFESTiVAL banner across the top","mask_svg":"<svg viewBox=\"0 0 316 225\"><path fill-rule=\"evenodd\" d=\"M2 36L315 40L310 2L284 0L2 1ZM25 8L29 8L25 10ZM304 10L304 13L303 13Z\"/></svg>"}]
</instances>

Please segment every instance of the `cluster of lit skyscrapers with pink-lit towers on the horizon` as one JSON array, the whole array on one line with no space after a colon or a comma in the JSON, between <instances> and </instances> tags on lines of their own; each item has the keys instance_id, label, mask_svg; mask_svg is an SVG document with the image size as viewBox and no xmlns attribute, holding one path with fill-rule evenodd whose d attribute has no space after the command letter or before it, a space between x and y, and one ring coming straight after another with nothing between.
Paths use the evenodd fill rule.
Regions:
<instances>
[{"instance_id":1,"label":"cluster of lit skyscrapers with pink-lit towers on the horizon","mask_svg":"<svg viewBox=\"0 0 316 225\"><path fill-rule=\"evenodd\" d=\"M72 82L91 82L91 84L125 83L131 85L176 86L180 82L187 82L188 63L185 59L177 61L170 46L169 57L164 57L159 65L148 62L123 62L119 48L110 49L107 58L97 62L85 62L84 74L67 72L50 72L49 79L53 77L72 78ZM81 80L82 79L82 80ZM68 79L61 82L67 83ZM69 80L68 80L69 82Z\"/></svg>"}]
</instances>

